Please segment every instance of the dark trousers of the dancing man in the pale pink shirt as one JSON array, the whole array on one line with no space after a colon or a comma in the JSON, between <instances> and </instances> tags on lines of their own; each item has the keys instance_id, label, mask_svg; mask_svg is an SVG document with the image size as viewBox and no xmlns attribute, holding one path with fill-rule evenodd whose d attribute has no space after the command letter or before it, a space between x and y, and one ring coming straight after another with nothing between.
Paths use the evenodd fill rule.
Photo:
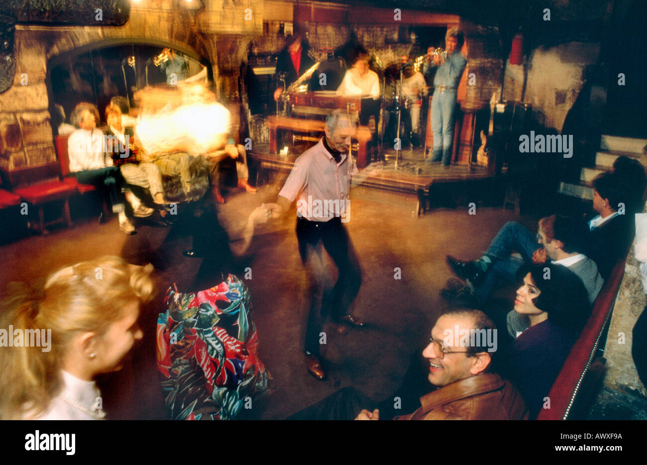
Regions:
<instances>
[{"instance_id":1,"label":"dark trousers of the dancing man in the pale pink shirt","mask_svg":"<svg viewBox=\"0 0 647 465\"><path fill-rule=\"evenodd\" d=\"M305 332L305 350L317 355L323 318L331 315L333 320L338 320L347 314L362 284L362 274L355 248L339 218L329 221L298 218L296 237L303 264L314 278ZM334 284L323 249L331 256L338 270Z\"/></svg>"}]
</instances>

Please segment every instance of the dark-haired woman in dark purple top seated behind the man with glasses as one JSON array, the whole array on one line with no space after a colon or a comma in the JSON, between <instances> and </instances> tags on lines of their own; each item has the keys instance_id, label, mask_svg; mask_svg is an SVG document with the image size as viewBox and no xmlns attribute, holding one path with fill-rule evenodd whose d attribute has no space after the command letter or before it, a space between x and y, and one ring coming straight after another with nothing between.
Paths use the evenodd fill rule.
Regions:
<instances>
[{"instance_id":1,"label":"dark-haired woman in dark purple top seated behind the man with glasses","mask_svg":"<svg viewBox=\"0 0 647 465\"><path fill-rule=\"evenodd\" d=\"M590 308L580 278L567 267L541 264L524 269L514 312L531 326L516 337L501 370L516 384L530 418L542 409Z\"/></svg>"}]
</instances>

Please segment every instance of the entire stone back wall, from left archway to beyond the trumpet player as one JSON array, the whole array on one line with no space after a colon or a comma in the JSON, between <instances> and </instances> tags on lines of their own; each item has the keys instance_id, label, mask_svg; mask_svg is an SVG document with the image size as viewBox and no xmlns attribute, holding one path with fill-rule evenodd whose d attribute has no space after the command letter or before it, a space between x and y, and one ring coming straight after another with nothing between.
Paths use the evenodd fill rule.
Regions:
<instances>
[{"instance_id":1,"label":"entire stone back wall, from left archway to beyond the trumpet player","mask_svg":"<svg viewBox=\"0 0 647 465\"><path fill-rule=\"evenodd\" d=\"M602 0L600 0L602 1ZM376 17L358 6L323 2L293 3L280 0L203 0L204 8L190 12L175 0L132 3L129 21L123 27L71 27L17 25L17 69L14 85L0 94L0 167L53 161L47 95L47 63L78 47L108 45L111 40L165 45L193 54L212 64L219 98L244 101L240 95L241 64L247 54L276 53L285 38L282 23L296 21L308 32L314 48L334 49L355 32L358 41L384 63L411 52L411 43L400 43L407 25L447 27L459 24L465 32L463 54L468 58L465 76L474 74L474 84L464 80L460 98L490 100L499 93L503 57L498 29L479 25L451 14L404 10L402 21L391 21L388 8L372 8ZM604 3L604 2L602 2ZM390 15L390 16L389 16ZM564 118L584 82L584 71L599 55L597 43L569 42L535 47L529 57L525 102L530 102L540 123L560 130ZM416 54L418 51L416 51ZM519 100L523 69L508 65L504 98ZM33 131L26 133L25 131Z\"/></svg>"}]
</instances>

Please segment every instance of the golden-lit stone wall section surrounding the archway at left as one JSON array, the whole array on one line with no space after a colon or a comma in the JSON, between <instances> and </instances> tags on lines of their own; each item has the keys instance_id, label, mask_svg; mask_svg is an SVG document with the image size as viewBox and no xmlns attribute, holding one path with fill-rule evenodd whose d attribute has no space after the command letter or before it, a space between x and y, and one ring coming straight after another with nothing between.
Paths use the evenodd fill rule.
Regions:
<instances>
[{"instance_id":1,"label":"golden-lit stone wall section surrounding the archway at left","mask_svg":"<svg viewBox=\"0 0 647 465\"><path fill-rule=\"evenodd\" d=\"M133 3L130 19L122 27L16 25L14 84L0 94L0 168L13 170L56 160L47 63L78 47L126 40L193 51L212 63L216 93L239 98L237 70L248 41L263 30L263 0L203 3L197 12L179 8L173 0Z\"/></svg>"}]
</instances>

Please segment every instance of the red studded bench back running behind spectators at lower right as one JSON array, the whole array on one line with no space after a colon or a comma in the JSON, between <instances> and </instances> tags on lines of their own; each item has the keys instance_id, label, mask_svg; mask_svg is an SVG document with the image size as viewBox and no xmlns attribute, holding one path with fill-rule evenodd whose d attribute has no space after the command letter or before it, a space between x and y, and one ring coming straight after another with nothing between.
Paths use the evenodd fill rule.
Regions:
<instances>
[{"instance_id":1,"label":"red studded bench back running behind spectators at lower right","mask_svg":"<svg viewBox=\"0 0 647 465\"><path fill-rule=\"evenodd\" d=\"M576 402L583 402L586 407L587 401L595 392L597 380L587 379L587 375L599 378L602 374L599 370L591 370L591 365L595 359L595 354L600 346L600 340L611 319L615 298L624 277L624 262L619 262L611 271L604 287L600 290L598 298L593 305L591 317L580 333L575 345L564 362L562 371L553 383L551 392L548 397L551 402L551 408L542 409L537 420L566 420L573 417L573 407ZM582 406L580 405L580 414ZM573 418L575 420L581 418Z\"/></svg>"}]
</instances>

